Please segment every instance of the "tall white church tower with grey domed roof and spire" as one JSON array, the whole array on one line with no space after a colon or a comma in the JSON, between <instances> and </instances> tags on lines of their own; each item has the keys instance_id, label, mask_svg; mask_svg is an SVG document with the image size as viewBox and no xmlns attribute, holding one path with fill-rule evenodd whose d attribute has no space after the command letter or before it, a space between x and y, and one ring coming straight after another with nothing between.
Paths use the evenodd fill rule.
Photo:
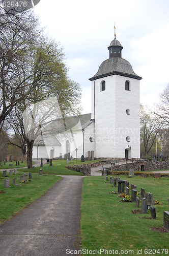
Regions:
<instances>
[{"instance_id":1,"label":"tall white church tower with grey domed roof and spire","mask_svg":"<svg viewBox=\"0 0 169 256\"><path fill-rule=\"evenodd\" d=\"M89 79L95 120L95 158L139 158L139 80L142 77L122 58L123 47L116 39L116 30L108 50L109 58Z\"/></svg>"}]
</instances>

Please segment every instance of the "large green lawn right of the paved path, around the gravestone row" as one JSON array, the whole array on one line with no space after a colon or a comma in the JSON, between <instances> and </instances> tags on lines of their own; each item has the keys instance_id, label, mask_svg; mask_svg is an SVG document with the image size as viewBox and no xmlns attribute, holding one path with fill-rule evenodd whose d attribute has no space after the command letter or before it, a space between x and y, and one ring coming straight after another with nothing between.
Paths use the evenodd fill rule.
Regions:
<instances>
[{"instance_id":1,"label":"large green lawn right of the paved path, around the gravestone row","mask_svg":"<svg viewBox=\"0 0 169 256\"><path fill-rule=\"evenodd\" d=\"M109 194L110 191L118 191L118 184L116 187L112 187L112 184L104 184L103 176L84 177L81 203L81 249L103 248L108 251L114 249L119 250L118 254L120 250L133 250L133 255L137 255L137 249L142 249L142 255L161 255L161 249L164 248L168 249L168 252L163 251L163 254L168 254L169 233L155 232L151 228L163 226L163 211L168 211L169 178L128 178L128 176L120 176L120 178L129 181L129 184L137 185L139 192L137 197L140 198L140 188L143 187L146 193L153 194L153 200L162 202L162 205L152 205L156 208L156 220L149 219L150 212L148 214L132 213L133 209L141 209L142 200L139 201L140 207L136 208L135 202L120 202L121 198L117 198L118 194ZM151 253L145 253L145 249L155 249L156 253L151 251L148 251ZM158 249L160 253L157 252ZM111 254L106 253L106 255Z\"/></svg>"}]
</instances>

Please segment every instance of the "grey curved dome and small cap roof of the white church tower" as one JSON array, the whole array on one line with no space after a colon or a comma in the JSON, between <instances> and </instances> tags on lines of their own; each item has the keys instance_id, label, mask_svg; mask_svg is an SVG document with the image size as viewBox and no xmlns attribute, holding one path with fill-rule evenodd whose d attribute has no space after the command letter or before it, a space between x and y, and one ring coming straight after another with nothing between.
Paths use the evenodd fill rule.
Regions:
<instances>
[{"instance_id":1,"label":"grey curved dome and small cap roof of the white church tower","mask_svg":"<svg viewBox=\"0 0 169 256\"><path fill-rule=\"evenodd\" d=\"M114 58L109 58L104 60L101 63L98 72L93 77L89 78L89 80L92 81L92 80L102 78L105 76L110 76L110 75L121 75L121 76L135 78L138 80L142 79L142 77L137 76L134 73L131 67L131 64L126 59L123 59L120 57L114 57Z\"/></svg>"}]
</instances>

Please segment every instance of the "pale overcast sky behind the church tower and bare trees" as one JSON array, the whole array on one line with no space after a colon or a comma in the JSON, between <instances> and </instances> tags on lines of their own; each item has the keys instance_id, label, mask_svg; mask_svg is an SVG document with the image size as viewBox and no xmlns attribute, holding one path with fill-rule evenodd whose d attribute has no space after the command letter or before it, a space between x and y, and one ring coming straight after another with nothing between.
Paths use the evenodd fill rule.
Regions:
<instances>
[{"instance_id":1,"label":"pale overcast sky behind the church tower and bare trees","mask_svg":"<svg viewBox=\"0 0 169 256\"><path fill-rule=\"evenodd\" d=\"M69 76L82 88L83 114L91 113L89 78L109 58L114 22L122 57L143 77L140 102L158 101L169 83L168 0L41 0L35 12L48 35L64 48Z\"/></svg>"}]
</instances>

